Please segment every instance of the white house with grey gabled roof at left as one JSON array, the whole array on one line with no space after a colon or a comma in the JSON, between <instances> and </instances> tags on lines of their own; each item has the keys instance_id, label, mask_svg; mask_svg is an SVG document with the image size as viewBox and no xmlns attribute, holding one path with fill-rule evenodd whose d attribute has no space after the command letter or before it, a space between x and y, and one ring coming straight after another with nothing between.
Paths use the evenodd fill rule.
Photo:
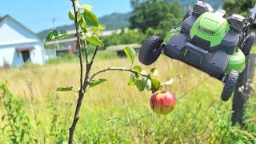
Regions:
<instances>
[{"instance_id":1,"label":"white house with grey gabled roof at left","mask_svg":"<svg viewBox=\"0 0 256 144\"><path fill-rule=\"evenodd\" d=\"M0 18L0 66L24 62L43 65L45 49L40 38L9 15Z\"/></svg>"}]
</instances>

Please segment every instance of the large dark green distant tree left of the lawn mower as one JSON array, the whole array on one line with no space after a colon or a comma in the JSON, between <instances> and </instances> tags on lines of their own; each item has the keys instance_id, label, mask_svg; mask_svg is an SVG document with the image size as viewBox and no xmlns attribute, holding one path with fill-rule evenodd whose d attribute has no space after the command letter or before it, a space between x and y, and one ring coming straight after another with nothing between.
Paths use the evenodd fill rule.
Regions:
<instances>
[{"instance_id":1,"label":"large dark green distant tree left of the lawn mower","mask_svg":"<svg viewBox=\"0 0 256 144\"><path fill-rule=\"evenodd\" d=\"M182 10L178 2L144 0L134 8L130 17L130 25L131 28L138 28L146 32L148 28L159 28L161 23L166 23L166 28L175 26L177 24L175 20L181 18Z\"/></svg>"}]
</instances>

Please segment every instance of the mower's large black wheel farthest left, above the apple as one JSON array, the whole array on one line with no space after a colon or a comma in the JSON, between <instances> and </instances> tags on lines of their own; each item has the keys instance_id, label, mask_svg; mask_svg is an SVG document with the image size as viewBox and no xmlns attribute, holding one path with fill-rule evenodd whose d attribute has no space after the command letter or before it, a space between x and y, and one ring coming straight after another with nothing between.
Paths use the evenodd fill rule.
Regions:
<instances>
[{"instance_id":1,"label":"mower's large black wheel farthest left, above the apple","mask_svg":"<svg viewBox=\"0 0 256 144\"><path fill-rule=\"evenodd\" d=\"M138 60L142 62L142 64L149 66L154 63L159 55L162 53L163 46L162 46L163 39L157 36L152 36L148 38L144 43L139 51Z\"/></svg>"}]
</instances>

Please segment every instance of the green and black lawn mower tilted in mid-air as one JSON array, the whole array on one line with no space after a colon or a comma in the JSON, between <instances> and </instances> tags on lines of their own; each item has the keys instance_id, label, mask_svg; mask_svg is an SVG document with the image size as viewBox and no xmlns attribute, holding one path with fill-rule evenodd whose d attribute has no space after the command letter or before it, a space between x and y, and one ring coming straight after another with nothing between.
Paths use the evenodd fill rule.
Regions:
<instances>
[{"instance_id":1,"label":"green and black lawn mower tilted in mid-air","mask_svg":"<svg viewBox=\"0 0 256 144\"><path fill-rule=\"evenodd\" d=\"M225 10L216 10L206 2L197 1L186 13L182 25L165 39L152 36L144 42L139 61L154 63L159 55L178 59L224 82L222 100L233 94L238 75L245 69L246 58L254 43L250 32L256 15L256 5L248 21L238 14L224 18Z\"/></svg>"}]
</instances>

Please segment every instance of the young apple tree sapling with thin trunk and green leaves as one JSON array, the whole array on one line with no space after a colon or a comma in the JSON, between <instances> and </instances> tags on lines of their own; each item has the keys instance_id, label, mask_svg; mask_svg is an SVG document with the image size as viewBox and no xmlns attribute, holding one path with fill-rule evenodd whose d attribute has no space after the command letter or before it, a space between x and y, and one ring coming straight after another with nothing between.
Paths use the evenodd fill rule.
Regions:
<instances>
[{"instance_id":1,"label":"young apple tree sapling with thin trunk and green leaves","mask_svg":"<svg viewBox=\"0 0 256 144\"><path fill-rule=\"evenodd\" d=\"M82 99L84 98L86 91L93 86L98 86L102 82L106 82L106 79L94 79L98 74L102 74L106 71L126 71L130 73L130 82L129 86L136 86L139 91L149 90L154 93L162 89L162 86L169 85L170 82L161 84L161 82L154 78L154 75L157 74L156 69L152 69L149 73L145 70L142 70L141 66L134 66L134 60L136 57L136 52L134 49L126 47L124 52L127 58L130 60L131 65L127 67L108 67L94 74L91 73L91 67L94 64L95 56L99 48L104 47L104 43L101 38L102 35L100 31L105 30L105 27L98 22L97 16L93 13L92 7L90 5L81 5L78 0L70 0L72 2L73 9L69 11L70 20L74 21L77 46L79 50L79 64L80 64L80 87L78 90L78 100L76 108L74 111L74 119L69 129L69 143L73 143L74 130L79 120L80 108L82 106ZM53 30L48 34L46 40L54 41L60 38L66 38L69 34L66 32L59 32L58 30ZM95 46L94 54L91 58L88 56L87 42ZM82 47L84 47L84 58L85 58L85 67L84 60L82 55ZM85 73L84 73L85 72ZM70 91L73 90L73 86L70 87L59 87L57 91Z\"/></svg>"}]
</instances>

